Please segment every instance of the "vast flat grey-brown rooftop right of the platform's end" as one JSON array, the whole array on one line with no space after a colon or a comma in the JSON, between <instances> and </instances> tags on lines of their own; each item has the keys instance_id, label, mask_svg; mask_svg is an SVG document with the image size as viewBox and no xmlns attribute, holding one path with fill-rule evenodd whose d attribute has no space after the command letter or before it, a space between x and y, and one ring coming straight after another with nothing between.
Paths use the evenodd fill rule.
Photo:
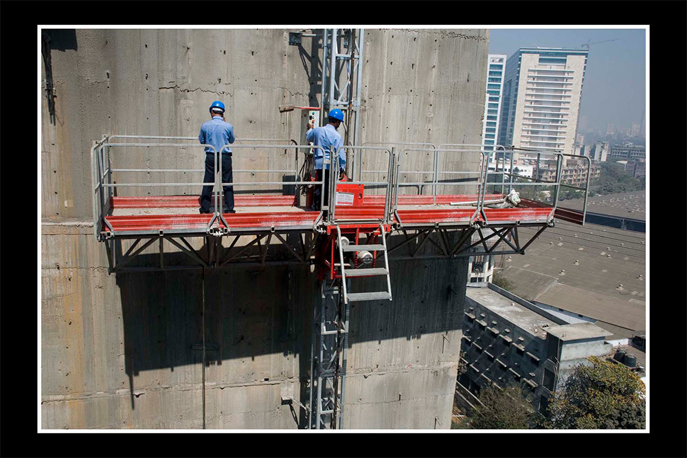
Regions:
<instances>
[{"instance_id":1,"label":"vast flat grey-brown rooftop right of the platform's end","mask_svg":"<svg viewBox=\"0 0 687 458\"><path fill-rule=\"evenodd\" d=\"M519 231L521 237L532 232ZM503 269L495 274L527 301L609 323L605 329L629 337L646 329L644 241L642 232L556 221L524 256L497 257Z\"/></svg>"}]
</instances>

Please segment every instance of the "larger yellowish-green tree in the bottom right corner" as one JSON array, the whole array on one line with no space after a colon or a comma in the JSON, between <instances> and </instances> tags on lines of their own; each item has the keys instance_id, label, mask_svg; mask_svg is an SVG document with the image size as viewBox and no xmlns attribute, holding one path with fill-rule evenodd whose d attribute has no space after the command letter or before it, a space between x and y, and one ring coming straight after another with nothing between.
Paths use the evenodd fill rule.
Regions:
<instances>
[{"instance_id":1,"label":"larger yellowish-green tree in the bottom right corner","mask_svg":"<svg viewBox=\"0 0 687 458\"><path fill-rule=\"evenodd\" d=\"M645 387L622 364L587 358L566 380L549 404L549 428L643 429L646 425Z\"/></svg>"}]
</instances>

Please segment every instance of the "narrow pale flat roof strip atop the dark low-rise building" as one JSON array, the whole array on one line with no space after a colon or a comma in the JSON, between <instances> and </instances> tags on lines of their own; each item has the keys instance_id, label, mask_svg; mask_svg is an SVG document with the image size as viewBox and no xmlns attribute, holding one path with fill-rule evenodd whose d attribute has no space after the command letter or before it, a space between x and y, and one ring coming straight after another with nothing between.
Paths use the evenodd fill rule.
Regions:
<instances>
[{"instance_id":1,"label":"narrow pale flat roof strip atop the dark low-rise building","mask_svg":"<svg viewBox=\"0 0 687 458\"><path fill-rule=\"evenodd\" d=\"M533 336L546 338L546 329L557 326L552 320L532 312L488 287L467 287L465 295Z\"/></svg>"}]
</instances>

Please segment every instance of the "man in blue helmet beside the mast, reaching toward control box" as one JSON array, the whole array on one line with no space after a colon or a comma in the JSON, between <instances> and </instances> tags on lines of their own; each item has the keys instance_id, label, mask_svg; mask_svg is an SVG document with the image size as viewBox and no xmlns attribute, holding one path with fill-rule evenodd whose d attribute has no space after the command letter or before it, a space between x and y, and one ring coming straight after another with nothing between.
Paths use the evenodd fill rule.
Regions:
<instances>
[{"instance_id":1,"label":"man in blue helmet beside the mast, reaching toward control box","mask_svg":"<svg viewBox=\"0 0 687 458\"><path fill-rule=\"evenodd\" d=\"M339 151L339 166L341 171L346 170L346 152L343 151L343 139L341 135L337 132L339 126L343 122L343 113L340 109L333 109L328 114L328 124L324 127L315 127L314 122L311 120L308 122L308 131L305 134L305 138L308 142L313 142L315 146L322 146L324 149L324 157L322 150L319 148L314 148L313 155L315 159L315 179L318 182L324 181L324 202L325 205L329 198L329 164L324 164L323 173L323 162L324 158L329 160L330 156L330 146L334 147L335 153ZM324 178L324 180L323 180ZM322 200L322 188L317 185L315 186L315 192L313 193L313 210L320 210L320 203Z\"/></svg>"}]
</instances>

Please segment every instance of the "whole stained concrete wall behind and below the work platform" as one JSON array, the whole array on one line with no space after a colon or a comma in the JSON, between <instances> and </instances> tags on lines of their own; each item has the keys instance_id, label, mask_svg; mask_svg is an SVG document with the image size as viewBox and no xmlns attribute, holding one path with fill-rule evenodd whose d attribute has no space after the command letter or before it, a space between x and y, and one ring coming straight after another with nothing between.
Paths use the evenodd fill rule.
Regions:
<instances>
[{"instance_id":1,"label":"whole stained concrete wall behind and below the work platform","mask_svg":"<svg viewBox=\"0 0 687 458\"><path fill-rule=\"evenodd\" d=\"M209 428L304 424L280 395L307 404L313 274L226 269L206 272L204 289L198 270L107 274L86 222L89 149L105 133L197 135L220 99L239 138L304 141L302 113L278 106L317 104L315 48L287 39L285 30L77 30L76 45L55 43L56 122L44 102L42 124L44 428L199 428L203 393ZM481 141L488 32L369 31L365 39L363 141L387 130L383 140ZM471 166L460 159L447 160ZM201 161L198 150L139 150L115 166ZM244 155L234 166L285 161ZM465 269L463 260L394 261L394 301L352 307L346 427L449 428Z\"/></svg>"}]
</instances>

